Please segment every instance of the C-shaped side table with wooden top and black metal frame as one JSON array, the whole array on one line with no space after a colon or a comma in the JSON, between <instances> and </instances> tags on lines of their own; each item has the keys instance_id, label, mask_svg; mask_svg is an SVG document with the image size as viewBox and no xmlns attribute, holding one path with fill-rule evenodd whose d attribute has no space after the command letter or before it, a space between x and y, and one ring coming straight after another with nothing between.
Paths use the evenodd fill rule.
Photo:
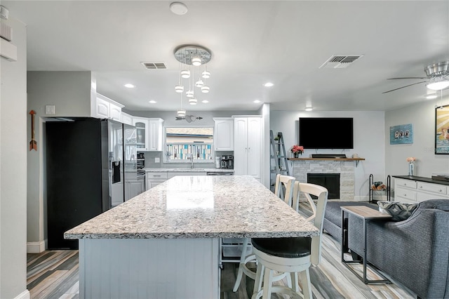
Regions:
<instances>
[{"instance_id":1,"label":"C-shaped side table with wooden top and black metal frame","mask_svg":"<svg viewBox=\"0 0 449 299\"><path fill-rule=\"evenodd\" d=\"M373 208L369 208L368 206L342 206L342 263L349 269L351 272L356 274L358 278L363 281L364 284L391 284L391 281L387 279L387 277L384 277L384 275L380 274L380 272L377 271L374 265L371 265L366 260L366 252L367 252L367 241L366 241L366 229L367 229L367 223L370 220L387 220L391 218L391 215L387 213L381 213L379 211L376 211ZM362 218L363 220L363 277L361 277L352 267L350 267L349 263L360 263L361 260L344 260L344 247L348 244L344 244L344 229L347 228L344 225L344 212L347 212L349 214L356 215L359 218ZM349 226L349 224L348 224ZM376 272L380 277L383 279L368 279L366 277L366 267L370 265L370 269Z\"/></svg>"}]
</instances>

